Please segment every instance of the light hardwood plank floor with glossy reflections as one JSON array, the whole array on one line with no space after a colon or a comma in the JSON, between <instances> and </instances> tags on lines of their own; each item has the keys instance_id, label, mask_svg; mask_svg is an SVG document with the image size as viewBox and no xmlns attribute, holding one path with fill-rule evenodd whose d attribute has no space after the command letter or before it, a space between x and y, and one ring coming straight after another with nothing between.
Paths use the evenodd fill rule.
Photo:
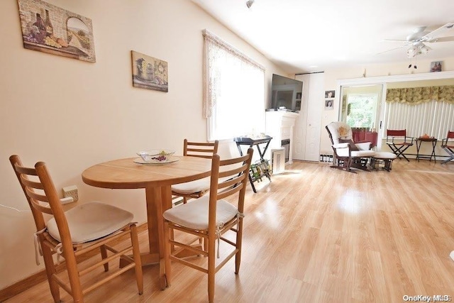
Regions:
<instances>
[{"instance_id":1,"label":"light hardwood plank floor with glossy reflections","mask_svg":"<svg viewBox=\"0 0 454 303\"><path fill-rule=\"evenodd\" d=\"M294 162L271 183L255 184L258 193L250 187L246 193L240 273L234 274L231 260L216 274L216 302L404 302L404 295L419 294L453 299L454 163L396 160L392 172L353 174L326 163ZM87 294L86 302L208 301L206 275L173 268L167 290L159 290L157 266L151 265L144 268L143 295L130 271ZM43 282L6 302L52 297Z\"/></svg>"}]
</instances>

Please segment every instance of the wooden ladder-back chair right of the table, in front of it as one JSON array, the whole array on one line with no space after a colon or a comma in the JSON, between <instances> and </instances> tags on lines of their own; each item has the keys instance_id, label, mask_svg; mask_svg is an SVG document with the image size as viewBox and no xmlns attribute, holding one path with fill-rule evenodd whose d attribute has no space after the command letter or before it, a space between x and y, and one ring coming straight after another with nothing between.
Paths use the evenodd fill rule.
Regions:
<instances>
[{"instance_id":1,"label":"wooden ladder-back chair right of the table, in front of it","mask_svg":"<svg viewBox=\"0 0 454 303\"><path fill-rule=\"evenodd\" d=\"M239 158L221 160L215 154L211 162L211 178L209 194L204 195L192 202L182 204L172 209L167 209L163 214L164 238L165 238L165 278L167 287L172 283L172 268L170 261L176 261L187 265L208 275L208 297L209 302L214 301L214 277L215 273L235 256L235 273L240 270L241 243L243 237L243 212L245 191L248 182L250 161L253 149L249 148L246 155ZM228 181L225 181L228 178ZM231 204L225 198L235 196L236 202ZM177 241L172 238L172 231L189 233L203 237L208 243L207 248L192 246L196 241ZM226 232L236 234L236 240L230 240L231 235L224 237ZM181 234L179 236L182 236ZM187 237L180 237L187 238ZM217 258L216 258L216 241ZM222 246L220 242L223 241ZM230 245L224 247L224 243ZM173 247L176 249L172 249ZM219 258L220 248L231 248L222 253ZM191 259L179 257L182 250L190 250L198 255L208 257L208 265L193 263ZM216 262L217 260L217 262ZM216 264L217 263L217 264Z\"/></svg>"}]
</instances>

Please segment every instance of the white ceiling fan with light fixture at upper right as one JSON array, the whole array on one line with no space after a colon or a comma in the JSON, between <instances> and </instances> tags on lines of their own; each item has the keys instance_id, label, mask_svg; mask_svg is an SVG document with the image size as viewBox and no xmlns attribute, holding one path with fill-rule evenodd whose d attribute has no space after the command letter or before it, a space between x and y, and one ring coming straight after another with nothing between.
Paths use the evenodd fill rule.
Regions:
<instances>
[{"instance_id":1,"label":"white ceiling fan with light fixture at upper right","mask_svg":"<svg viewBox=\"0 0 454 303\"><path fill-rule=\"evenodd\" d=\"M406 36L405 40L395 40L395 39L385 39L387 41L399 41L403 42L404 45L399 46L399 48L407 48L406 55L409 58L415 57L417 55L428 53L431 48L426 45L426 43L436 43L436 42L448 42L454 41L454 36L450 37L441 37L443 33L446 33L450 30L453 30L454 22L446 23L444 26L437 28L434 31L427 32L427 26L421 26L415 28L413 33ZM397 50L399 48L393 48L391 50ZM382 53L387 53L391 50L385 50ZM380 53L380 54L382 54Z\"/></svg>"}]
</instances>

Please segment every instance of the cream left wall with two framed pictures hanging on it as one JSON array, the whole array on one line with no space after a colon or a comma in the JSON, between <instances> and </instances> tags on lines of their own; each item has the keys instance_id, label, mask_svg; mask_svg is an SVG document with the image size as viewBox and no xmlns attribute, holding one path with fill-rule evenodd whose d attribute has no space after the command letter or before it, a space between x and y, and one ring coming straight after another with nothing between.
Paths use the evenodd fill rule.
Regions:
<instances>
[{"instance_id":1,"label":"cream left wall with two framed pictures hanging on it","mask_svg":"<svg viewBox=\"0 0 454 303\"><path fill-rule=\"evenodd\" d=\"M82 171L145 148L182 153L184 138L206 141L202 118L204 28L285 75L257 50L188 0L48 0L91 18L96 63L23 48L16 0L0 1L0 204L27 210L9 156L48 163L55 186L76 184L82 200L110 200L144 222L145 193L89 187ZM131 50L165 60L169 92L132 86ZM265 114L265 113L264 113ZM0 207L0 289L43 268L34 260L30 212Z\"/></svg>"}]
</instances>

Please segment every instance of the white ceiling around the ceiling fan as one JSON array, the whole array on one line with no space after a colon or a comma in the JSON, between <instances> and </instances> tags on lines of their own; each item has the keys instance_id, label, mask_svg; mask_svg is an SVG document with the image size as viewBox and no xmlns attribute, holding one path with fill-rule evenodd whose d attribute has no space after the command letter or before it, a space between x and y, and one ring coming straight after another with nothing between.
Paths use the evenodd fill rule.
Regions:
<instances>
[{"instance_id":1,"label":"white ceiling around the ceiling fan","mask_svg":"<svg viewBox=\"0 0 454 303\"><path fill-rule=\"evenodd\" d=\"M384 39L454 21L454 0L255 0L250 9L246 0L192 1L289 73L408 64L404 43ZM454 36L454 28L440 36ZM432 50L417 60L454 56L454 41L427 45Z\"/></svg>"}]
</instances>

